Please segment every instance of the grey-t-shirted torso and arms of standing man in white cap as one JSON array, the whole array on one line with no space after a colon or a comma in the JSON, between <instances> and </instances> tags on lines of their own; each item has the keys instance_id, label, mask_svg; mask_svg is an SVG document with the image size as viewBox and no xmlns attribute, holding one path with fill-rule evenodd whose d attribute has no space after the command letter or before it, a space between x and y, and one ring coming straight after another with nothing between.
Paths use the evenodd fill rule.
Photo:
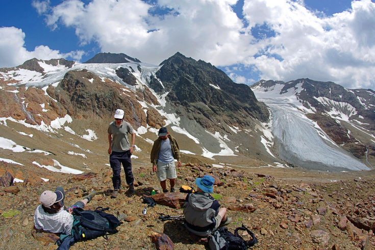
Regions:
<instances>
[{"instance_id":1,"label":"grey-t-shirted torso and arms of standing man in white cap","mask_svg":"<svg viewBox=\"0 0 375 250\"><path fill-rule=\"evenodd\" d=\"M125 152L130 148L128 133L133 134L133 127L129 122L122 121L120 127L116 126L116 122L112 121L108 127L108 134L112 134L112 151Z\"/></svg>"}]
</instances>

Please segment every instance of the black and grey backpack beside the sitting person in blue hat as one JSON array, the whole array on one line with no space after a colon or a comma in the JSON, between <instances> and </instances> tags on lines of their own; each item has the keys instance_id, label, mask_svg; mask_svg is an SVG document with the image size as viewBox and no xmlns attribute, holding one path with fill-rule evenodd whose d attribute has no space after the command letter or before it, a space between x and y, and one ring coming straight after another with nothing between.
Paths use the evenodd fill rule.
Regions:
<instances>
[{"instance_id":1,"label":"black and grey backpack beside the sitting person in blue hat","mask_svg":"<svg viewBox=\"0 0 375 250\"><path fill-rule=\"evenodd\" d=\"M238 230L247 231L253 238L252 240L244 240L239 234ZM211 250L242 250L247 249L258 243L257 238L252 231L248 230L243 224L234 230L234 234L228 231L228 228L221 227L212 232L208 236L208 245Z\"/></svg>"}]
</instances>

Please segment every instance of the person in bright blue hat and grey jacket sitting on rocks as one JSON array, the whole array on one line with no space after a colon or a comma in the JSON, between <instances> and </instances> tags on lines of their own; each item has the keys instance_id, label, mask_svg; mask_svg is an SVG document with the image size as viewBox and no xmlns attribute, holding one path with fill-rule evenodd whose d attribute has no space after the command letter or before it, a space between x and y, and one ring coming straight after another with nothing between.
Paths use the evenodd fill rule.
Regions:
<instances>
[{"instance_id":1,"label":"person in bright blue hat and grey jacket sitting on rocks","mask_svg":"<svg viewBox=\"0 0 375 250\"><path fill-rule=\"evenodd\" d=\"M219 202L210 195L214 182L215 179L209 175L196 178L197 191L186 196L184 226L198 236L206 237L232 221L227 217L227 209L219 208Z\"/></svg>"}]
</instances>

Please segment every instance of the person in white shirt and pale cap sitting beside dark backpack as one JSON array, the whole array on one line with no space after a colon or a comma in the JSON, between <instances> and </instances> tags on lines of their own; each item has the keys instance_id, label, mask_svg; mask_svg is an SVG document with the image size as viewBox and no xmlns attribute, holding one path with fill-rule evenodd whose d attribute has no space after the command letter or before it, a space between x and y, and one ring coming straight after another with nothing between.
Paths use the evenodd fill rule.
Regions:
<instances>
[{"instance_id":1,"label":"person in white shirt and pale cap sitting beside dark backpack","mask_svg":"<svg viewBox=\"0 0 375 250\"><path fill-rule=\"evenodd\" d=\"M92 191L82 201L76 202L72 207L65 209L65 193L62 187L57 187L55 192L44 191L39 197L42 205L39 205L34 213L35 228L51 233L70 234L73 226L72 208L83 208L95 194L95 191Z\"/></svg>"}]
</instances>

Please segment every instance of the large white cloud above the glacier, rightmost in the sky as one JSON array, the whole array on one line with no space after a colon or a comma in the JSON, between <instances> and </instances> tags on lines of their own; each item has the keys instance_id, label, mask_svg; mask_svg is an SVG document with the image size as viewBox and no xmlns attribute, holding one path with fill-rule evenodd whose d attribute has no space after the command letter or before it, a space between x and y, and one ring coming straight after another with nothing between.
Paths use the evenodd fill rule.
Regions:
<instances>
[{"instance_id":1,"label":"large white cloud above the glacier, rightmost in the sky","mask_svg":"<svg viewBox=\"0 0 375 250\"><path fill-rule=\"evenodd\" d=\"M351 11L318 17L291 1L245 1L251 26L268 23L278 34L260 41L272 57L251 57L263 79L290 81L311 78L333 81L348 88L375 87L375 4L354 1ZM369 56L371 55L371 56Z\"/></svg>"}]
</instances>

